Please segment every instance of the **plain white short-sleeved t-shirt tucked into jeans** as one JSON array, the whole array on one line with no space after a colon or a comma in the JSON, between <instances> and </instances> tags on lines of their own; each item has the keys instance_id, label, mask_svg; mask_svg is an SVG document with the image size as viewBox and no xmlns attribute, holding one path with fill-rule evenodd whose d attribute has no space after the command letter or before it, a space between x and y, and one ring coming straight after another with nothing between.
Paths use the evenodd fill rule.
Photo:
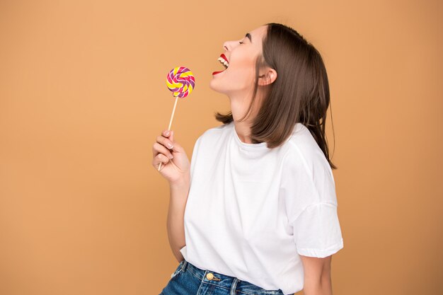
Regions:
<instances>
[{"instance_id":1,"label":"plain white short-sleeved t-shirt tucked into jeans","mask_svg":"<svg viewBox=\"0 0 443 295\"><path fill-rule=\"evenodd\" d=\"M263 289L303 289L299 255L343 248L332 170L297 123L275 149L246 144L234 122L195 142L185 207L185 260Z\"/></svg>"}]
</instances>

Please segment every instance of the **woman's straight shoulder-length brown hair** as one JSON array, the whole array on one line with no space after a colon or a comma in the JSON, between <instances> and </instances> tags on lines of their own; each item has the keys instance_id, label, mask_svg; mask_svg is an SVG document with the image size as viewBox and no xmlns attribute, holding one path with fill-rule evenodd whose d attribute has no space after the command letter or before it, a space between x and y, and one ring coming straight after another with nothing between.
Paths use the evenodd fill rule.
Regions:
<instances>
[{"instance_id":1,"label":"woman's straight shoulder-length brown hair","mask_svg":"<svg viewBox=\"0 0 443 295\"><path fill-rule=\"evenodd\" d=\"M263 55L255 62L255 85L251 105L240 121L249 115L258 89L258 71L270 66L277 79L263 86L265 96L251 125L253 144L266 142L269 149L280 146L291 136L297 122L309 129L332 169L325 134L326 111L330 103L328 75L320 53L296 30L280 23L267 23ZM234 120L232 112L215 113L219 122Z\"/></svg>"}]
</instances>

